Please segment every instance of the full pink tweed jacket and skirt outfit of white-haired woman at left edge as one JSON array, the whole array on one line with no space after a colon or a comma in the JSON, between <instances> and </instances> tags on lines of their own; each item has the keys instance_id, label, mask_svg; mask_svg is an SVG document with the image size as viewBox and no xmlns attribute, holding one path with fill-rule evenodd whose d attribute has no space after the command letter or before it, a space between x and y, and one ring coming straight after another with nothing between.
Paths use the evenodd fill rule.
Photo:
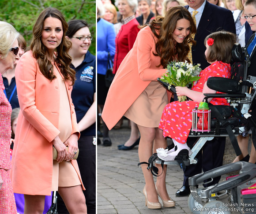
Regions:
<instances>
[{"instance_id":1,"label":"full pink tweed jacket and skirt outfit of white-haired woman at left edge","mask_svg":"<svg viewBox=\"0 0 256 214\"><path fill-rule=\"evenodd\" d=\"M11 104L4 95L3 78L0 74L0 174L3 185L0 190L0 214L17 214L11 186L10 169Z\"/></svg>"}]
</instances>

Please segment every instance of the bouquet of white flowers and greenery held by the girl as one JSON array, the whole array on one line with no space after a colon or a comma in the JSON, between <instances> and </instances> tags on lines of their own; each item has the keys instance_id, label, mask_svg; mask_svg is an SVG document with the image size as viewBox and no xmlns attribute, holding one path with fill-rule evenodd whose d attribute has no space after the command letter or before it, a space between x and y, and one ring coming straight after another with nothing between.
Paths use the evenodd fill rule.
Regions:
<instances>
[{"instance_id":1,"label":"bouquet of white flowers and greenery held by the girl","mask_svg":"<svg viewBox=\"0 0 256 214\"><path fill-rule=\"evenodd\" d=\"M192 84L194 81L198 81L200 77L200 64L192 65L191 63L185 62L177 62L171 61L166 68L166 73L164 73L161 77L161 81L169 84L169 89L171 85L174 86L188 86ZM186 96L178 96L178 100L180 102L186 100Z\"/></svg>"}]
</instances>

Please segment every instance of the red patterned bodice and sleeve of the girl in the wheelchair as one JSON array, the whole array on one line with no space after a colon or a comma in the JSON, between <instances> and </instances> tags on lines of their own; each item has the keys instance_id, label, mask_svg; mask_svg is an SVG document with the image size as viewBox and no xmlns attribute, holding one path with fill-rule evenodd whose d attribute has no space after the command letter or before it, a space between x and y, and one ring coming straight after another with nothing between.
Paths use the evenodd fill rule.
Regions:
<instances>
[{"instance_id":1,"label":"red patterned bodice and sleeve of the girl in the wheelchair","mask_svg":"<svg viewBox=\"0 0 256 214\"><path fill-rule=\"evenodd\" d=\"M217 61L215 63L212 63L210 66L202 70L199 74L201 77L198 81L194 82L194 86L192 87L192 90L197 92L203 91L203 85L205 82L207 82L207 79L209 77L226 77L230 78L230 64L228 63L222 63L220 61ZM222 92L216 92L217 94ZM213 98L211 102L213 105L228 105L226 99L224 98Z\"/></svg>"}]
</instances>

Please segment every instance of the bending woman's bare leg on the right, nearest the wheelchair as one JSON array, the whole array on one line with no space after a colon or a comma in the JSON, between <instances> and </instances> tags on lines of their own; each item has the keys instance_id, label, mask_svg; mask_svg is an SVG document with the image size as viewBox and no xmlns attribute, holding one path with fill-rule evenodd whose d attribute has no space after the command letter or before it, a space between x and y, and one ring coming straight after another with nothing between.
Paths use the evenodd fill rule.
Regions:
<instances>
[{"instance_id":1,"label":"bending woman's bare leg on the right, nearest the wheelchair","mask_svg":"<svg viewBox=\"0 0 256 214\"><path fill-rule=\"evenodd\" d=\"M157 148L166 148L167 147L167 141L165 137L163 136L162 129L156 128L156 135L154 139L154 152L156 152ZM158 167L158 173L162 173L162 166L161 164L156 164L155 166ZM158 176L156 179L156 185L159 191L159 194L161 195L163 200L170 200L169 195L166 190L166 169L167 166L164 165L163 173L161 176Z\"/></svg>"}]
</instances>

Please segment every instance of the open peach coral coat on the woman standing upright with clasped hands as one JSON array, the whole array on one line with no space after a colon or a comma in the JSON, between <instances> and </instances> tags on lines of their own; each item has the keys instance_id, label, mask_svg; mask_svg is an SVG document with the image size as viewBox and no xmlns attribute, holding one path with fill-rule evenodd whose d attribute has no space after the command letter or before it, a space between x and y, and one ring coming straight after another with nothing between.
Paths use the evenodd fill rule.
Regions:
<instances>
[{"instance_id":1,"label":"open peach coral coat on the woman standing upright with clasped hands","mask_svg":"<svg viewBox=\"0 0 256 214\"><path fill-rule=\"evenodd\" d=\"M56 67L60 72L57 65ZM63 77L62 74L61 76ZM31 51L19 59L15 79L21 111L11 159L13 190L15 193L49 196L53 174L51 142L60 133L58 81L50 81L43 76ZM71 99L72 86L68 85L68 81L65 81L65 85L70 104L72 133L79 133L75 107ZM71 162L82 183L76 160Z\"/></svg>"}]
</instances>

